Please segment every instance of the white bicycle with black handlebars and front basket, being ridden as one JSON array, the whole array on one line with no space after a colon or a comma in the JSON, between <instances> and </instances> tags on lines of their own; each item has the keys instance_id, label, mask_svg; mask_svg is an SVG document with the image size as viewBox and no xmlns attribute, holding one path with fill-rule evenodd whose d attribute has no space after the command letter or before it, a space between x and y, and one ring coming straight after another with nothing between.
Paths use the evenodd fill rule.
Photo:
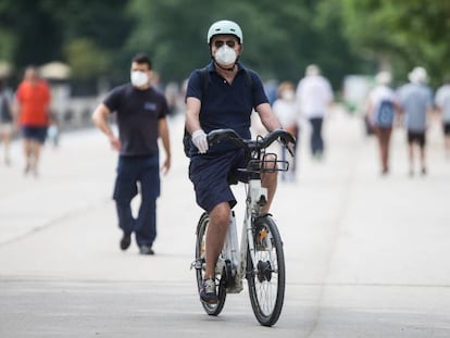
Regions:
<instances>
[{"instance_id":1,"label":"white bicycle with black handlebars and front basket, being ridden","mask_svg":"<svg viewBox=\"0 0 450 338\"><path fill-rule=\"evenodd\" d=\"M272 326L282 313L286 267L277 225L272 214L261 212L267 199L267 190L261 186L261 174L287 171L289 163L277 160L276 154L267 153L266 149L275 140L280 139L293 157L293 151L288 145L293 146L296 140L283 129L276 129L265 137L259 136L255 140L245 140L233 129L217 129L208 135L210 145L225 139L243 149L248 163L246 168L240 170L247 173L249 178L246 184L242 236L239 249L236 217L232 210L225 245L215 266L218 302L202 305L209 315L218 315L225 305L226 295L242 291L242 280L247 278L250 302L258 322L263 326ZM237 180L230 184L237 184ZM191 265L196 270L198 287L204 277L208 225L209 215L203 213L197 225L196 260Z\"/></svg>"}]
</instances>

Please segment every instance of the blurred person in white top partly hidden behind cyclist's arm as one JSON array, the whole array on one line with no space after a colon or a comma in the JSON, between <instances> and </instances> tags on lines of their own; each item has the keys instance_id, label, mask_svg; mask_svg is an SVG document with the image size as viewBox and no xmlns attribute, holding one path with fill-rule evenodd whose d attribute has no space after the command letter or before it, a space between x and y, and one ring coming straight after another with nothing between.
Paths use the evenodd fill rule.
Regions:
<instances>
[{"instance_id":1,"label":"blurred person in white top partly hidden behind cyclist's arm","mask_svg":"<svg viewBox=\"0 0 450 338\"><path fill-rule=\"evenodd\" d=\"M283 82L279 84L277 99L274 101L272 110L278 117L282 127L297 139L297 143L293 148L293 151L296 152L293 159L290 155L287 155L286 147L280 147L282 160L289 162L289 170L287 172L282 172L282 180L295 181L297 162L296 150L299 136L299 108L296 103L296 88L291 82Z\"/></svg>"}]
</instances>

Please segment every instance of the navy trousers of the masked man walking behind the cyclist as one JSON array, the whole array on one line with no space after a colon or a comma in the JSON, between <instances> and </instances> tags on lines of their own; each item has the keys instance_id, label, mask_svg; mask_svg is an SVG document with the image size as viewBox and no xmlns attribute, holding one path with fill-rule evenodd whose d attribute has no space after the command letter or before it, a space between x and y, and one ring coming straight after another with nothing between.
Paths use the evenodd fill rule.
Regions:
<instances>
[{"instance_id":1,"label":"navy trousers of the masked man walking behind the cyclist","mask_svg":"<svg viewBox=\"0 0 450 338\"><path fill-rule=\"evenodd\" d=\"M138 186L139 185L139 186ZM140 192L137 217L132 200ZM160 196L158 157L120 157L114 200L118 226L126 235L135 233L138 246L152 246L157 238L157 199Z\"/></svg>"}]
</instances>

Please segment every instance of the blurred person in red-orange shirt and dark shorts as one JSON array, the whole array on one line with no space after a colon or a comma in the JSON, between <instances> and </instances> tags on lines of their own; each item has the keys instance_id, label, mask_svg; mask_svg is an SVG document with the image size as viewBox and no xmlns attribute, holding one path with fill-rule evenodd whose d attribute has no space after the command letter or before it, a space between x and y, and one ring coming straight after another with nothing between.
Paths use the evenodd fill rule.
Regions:
<instances>
[{"instance_id":1,"label":"blurred person in red-orange shirt and dark shorts","mask_svg":"<svg viewBox=\"0 0 450 338\"><path fill-rule=\"evenodd\" d=\"M28 66L16 91L17 120L25 141L25 174L33 172L37 176L40 148L47 137L50 100L48 84L39 77L36 67Z\"/></svg>"}]
</instances>

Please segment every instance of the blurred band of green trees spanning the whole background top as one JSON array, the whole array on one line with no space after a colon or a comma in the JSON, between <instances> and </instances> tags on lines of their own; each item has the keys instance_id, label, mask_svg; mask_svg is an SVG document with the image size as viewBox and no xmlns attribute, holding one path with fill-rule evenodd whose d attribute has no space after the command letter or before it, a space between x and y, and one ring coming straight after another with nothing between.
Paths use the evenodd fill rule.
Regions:
<instances>
[{"instance_id":1,"label":"blurred band of green trees spanning the whole background top","mask_svg":"<svg viewBox=\"0 0 450 338\"><path fill-rule=\"evenodd\" d=\"M68 62L77 79L128 78L139 51L163 82L183 80L210 61L209 26L222 18L243 30L241 61L263 79L297 82L318 64L335 88L346 74L415 65L435 82L450 73L447 0L2 0L0 59L16 70Z\"/></svg>"}]
</instances>

